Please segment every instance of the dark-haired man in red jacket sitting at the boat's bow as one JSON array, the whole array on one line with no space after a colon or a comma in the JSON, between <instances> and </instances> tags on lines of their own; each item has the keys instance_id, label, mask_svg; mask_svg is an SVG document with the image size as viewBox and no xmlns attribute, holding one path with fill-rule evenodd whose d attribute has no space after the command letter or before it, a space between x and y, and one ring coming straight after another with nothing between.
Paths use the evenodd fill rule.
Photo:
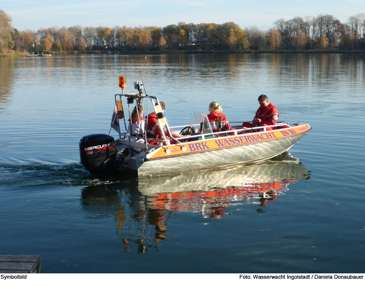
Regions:
<instances>
[{"instance_id":1,"label":"dark-haired man in red jacket sitting at the boat's bow","mask_svg":"<svg viewBox=\"0 0 365 287\"><path fill-rule=\"evenodd\" d=\"M267 96L260 95L257 100L260 104L260 107L256 111L256 115L252 123L248 121L242 123L242 127L245 129L245 131L256 126L263 127L276 125L277 120L279 119L279 112L272 103L269 103ZM275 127L266 128L267 131L274 129Z\"/></svg>"}]
</instances>

